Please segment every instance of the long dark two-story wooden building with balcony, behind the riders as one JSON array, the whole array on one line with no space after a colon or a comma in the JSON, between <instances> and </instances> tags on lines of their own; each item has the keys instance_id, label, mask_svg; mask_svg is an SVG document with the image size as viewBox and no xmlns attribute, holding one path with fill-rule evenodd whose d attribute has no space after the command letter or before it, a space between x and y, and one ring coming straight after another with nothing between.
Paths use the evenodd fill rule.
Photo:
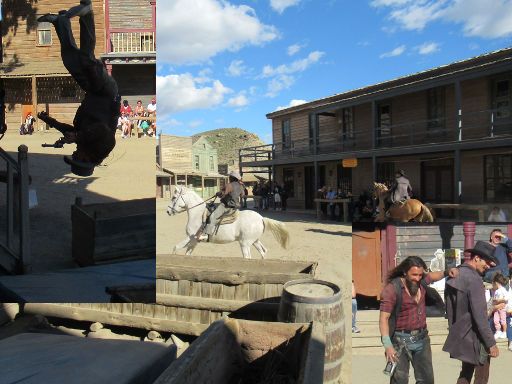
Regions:
<instances>
[{"instance_id":1,"label":"long dark two-story wooden building with balcony, behind the riders","mask_svg":"<svg viewBox=\"0 0 512 384\"><path fill-rule=\"evenodd\" d=\"M432 203L512 202L512 48L269 113L273 144L241 151L310 208L408 175ZM345 166L344 166L345 165Z\"/></svg>"}]
</instances>

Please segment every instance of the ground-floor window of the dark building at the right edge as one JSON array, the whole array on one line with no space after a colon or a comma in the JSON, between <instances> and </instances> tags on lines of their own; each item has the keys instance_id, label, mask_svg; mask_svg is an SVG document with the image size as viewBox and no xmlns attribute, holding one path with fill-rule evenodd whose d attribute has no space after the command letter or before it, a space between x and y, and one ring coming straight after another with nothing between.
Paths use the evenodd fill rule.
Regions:
<instances>
[{"instance_id":1,"label":"ground-floor window of the dark building at the right edge","mask_svg":"<svg viewBox=\"0 0 512 384\"><path fill-rule=\"evenodd\" d=\"M512 201L512 155L485 156L484 198L489 203Z\"/></svg>"}]
</instances>

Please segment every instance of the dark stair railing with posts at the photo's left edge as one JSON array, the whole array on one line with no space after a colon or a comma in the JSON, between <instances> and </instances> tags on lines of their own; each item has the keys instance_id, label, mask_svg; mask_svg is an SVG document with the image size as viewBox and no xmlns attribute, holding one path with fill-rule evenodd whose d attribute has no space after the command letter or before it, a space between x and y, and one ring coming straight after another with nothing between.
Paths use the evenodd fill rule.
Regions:
<instances>
[{"instance_id":1,"label":"dark stair railing with posts at the photo's left edge","mask_svg":"<svg viewBox=\"0 0 512 384\"><path fill-rule=\"evenodd\" d=\"M0 148L0 160L5 164L0 181L5 183L6 203L5 218L0 223L5 229L5 235L0 237L0 265L10 273L29 272L28 148L18 147L17 160Z\"/></svg>"}]
</instances>

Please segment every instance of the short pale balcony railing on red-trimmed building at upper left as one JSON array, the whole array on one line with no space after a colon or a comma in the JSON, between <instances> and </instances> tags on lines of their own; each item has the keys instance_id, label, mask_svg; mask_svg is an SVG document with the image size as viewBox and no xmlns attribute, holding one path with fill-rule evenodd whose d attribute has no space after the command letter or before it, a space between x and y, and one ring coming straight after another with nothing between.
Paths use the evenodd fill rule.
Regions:
<instances>
[{"instance_id":1,"label":"short pale balcony railing on red-trimmed building at upper left","mask_svg":"<svg viewBox=\"0 0 512 384\"><path fill-rule=\"evenodd\" d=\"M154 31L110 32L109 53L155 53Z\"/></svg>"}]
</instances>

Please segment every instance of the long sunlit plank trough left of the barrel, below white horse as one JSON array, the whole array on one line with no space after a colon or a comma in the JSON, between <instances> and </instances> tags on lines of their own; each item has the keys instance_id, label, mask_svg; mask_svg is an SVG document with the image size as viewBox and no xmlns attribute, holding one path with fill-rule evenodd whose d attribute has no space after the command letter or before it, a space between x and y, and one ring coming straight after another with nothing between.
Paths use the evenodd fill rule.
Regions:
<instances>
[{"instance_id":1,"label":"long sunlit plank trough left of the barrel, below white horse","mask_svg":"<svg viewBox=\"0 0 512 384\"><path fill-rule=\"evenodd\" d=\"M156 304L27 303L25 312L199 336L223 316L276 321L283 285L317 263L157 256Z\"/></svg>"}]
</instances>

